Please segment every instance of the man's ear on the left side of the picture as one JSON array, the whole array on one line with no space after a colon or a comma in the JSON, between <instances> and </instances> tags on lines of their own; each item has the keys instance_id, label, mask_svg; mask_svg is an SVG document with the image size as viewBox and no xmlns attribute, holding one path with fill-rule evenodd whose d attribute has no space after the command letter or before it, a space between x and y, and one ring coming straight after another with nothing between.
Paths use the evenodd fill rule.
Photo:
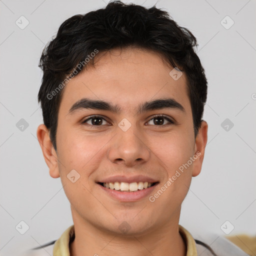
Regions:
<instances>
[{"instance_id":1,"label":"man's ear on the left side of the picture","mask_svg":"<svg viewBox=\"0 0 256 256\"><path fill-rule=\"evenodd\" d=\"M57 153L49 137L49 131L44 124L37 128L37 139L42 149L42 154L46 164L49 167L49 174L53 178L59 177Z\"/></svg>"}]
</instances>

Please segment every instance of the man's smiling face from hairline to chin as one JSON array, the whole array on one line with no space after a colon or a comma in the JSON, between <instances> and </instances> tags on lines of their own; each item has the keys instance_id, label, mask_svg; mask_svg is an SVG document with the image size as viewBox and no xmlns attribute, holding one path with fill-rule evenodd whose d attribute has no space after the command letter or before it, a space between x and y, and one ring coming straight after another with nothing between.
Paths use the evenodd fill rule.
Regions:
<instances>
[{"instance_id":1,"label":"man's smiling face from hairline to chin","mask_svg":"<svg viewBox=\"0 0 256 256\"><path fill-rule=\"evenodd\" d=\"M116 49L66 85L57 152L51 147L46 162L73 218L136 234L178 219L201 169L207 127L195 139L186 77L173 79L172 69L154 52Z\"/></svg>"}]
</instances>

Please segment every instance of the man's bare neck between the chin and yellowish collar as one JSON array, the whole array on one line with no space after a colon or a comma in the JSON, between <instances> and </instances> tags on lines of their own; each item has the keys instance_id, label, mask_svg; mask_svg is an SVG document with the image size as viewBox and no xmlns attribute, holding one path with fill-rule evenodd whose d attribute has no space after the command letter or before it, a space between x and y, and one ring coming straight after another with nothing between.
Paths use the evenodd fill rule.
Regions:
<instances>
[{"instance_id":1,"label":"man's bare neck between the chin and yellowish collar","mask_svg":"<svg viewBox=\"0 0 256 256\"><path fill-rule=\"evenodd\" d=\"M70 256L185 256L186 244L178 232L180 209L169 223L139 234L119 234L97 228L72 212L75 238L69 244Z\"/></svg>"}]
</instances>

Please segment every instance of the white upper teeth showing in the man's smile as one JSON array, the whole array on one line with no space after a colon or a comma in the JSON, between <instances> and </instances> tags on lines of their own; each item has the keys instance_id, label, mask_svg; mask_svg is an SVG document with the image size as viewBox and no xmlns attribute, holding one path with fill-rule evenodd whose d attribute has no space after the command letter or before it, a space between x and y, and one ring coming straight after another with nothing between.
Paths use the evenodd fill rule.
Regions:
<instances>
[{"instance_id":1,"label":"white upper teeth showing in the man's smile","mask_svg":"<svg viewBox=\"0 0 256 256\"><path fill-rule=\"evenodd\" d=\"M141 190L143 188L150 187L152 185L151 182L132 182L132 183L127 183L127 182L105 182L103 183L103 186L106 188L110 189L115 189L115 190L121 190L121 191L137 191L138 189Z\"/></svg>"}]
</instances>

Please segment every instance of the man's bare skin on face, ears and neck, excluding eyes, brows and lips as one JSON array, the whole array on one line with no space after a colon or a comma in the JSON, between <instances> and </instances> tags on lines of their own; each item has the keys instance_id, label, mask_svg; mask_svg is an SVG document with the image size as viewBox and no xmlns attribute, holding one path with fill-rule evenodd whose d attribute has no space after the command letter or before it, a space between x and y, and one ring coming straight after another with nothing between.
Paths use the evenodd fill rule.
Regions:
<instances>
[{"instance_id":1,"label":"man's bare skin on face, ears and neck, excluding eyes, brows and lips","mask_svg":"<svg viewBox=\"0 0 256 256\"><path fill-rule=\"evenodd\" d=\"M45 125L37 129L49 174L60 177L70 201L75 227L70 255L183 256L186 245L178 232L181 203L192 176L201 170L207 123L201 122L195 138L185 74L174 80L169 75L173 67L159 54L125 48L99 56L94 67L76 75L64 88L57 151ZM122 111L79 109L68 114L83 97L117 104ZM166 97L179 102L184 111L163 108L137 114L140 103ZM99 118L101 125L81 122L93 114L104 117ZM157 125L154 114L164 114L175 122L165 120ZM125 132L118 126L123 118L131 124ZM196 151L200 156L154 202L148 196L134 202L118 201L95 183L115 174L145 174L159 181L153 195ZM80 174L74 183L67 178L72 169ZM127 233L118 228L123 221L130 226Z\"/></svg>"}]
</instances>

